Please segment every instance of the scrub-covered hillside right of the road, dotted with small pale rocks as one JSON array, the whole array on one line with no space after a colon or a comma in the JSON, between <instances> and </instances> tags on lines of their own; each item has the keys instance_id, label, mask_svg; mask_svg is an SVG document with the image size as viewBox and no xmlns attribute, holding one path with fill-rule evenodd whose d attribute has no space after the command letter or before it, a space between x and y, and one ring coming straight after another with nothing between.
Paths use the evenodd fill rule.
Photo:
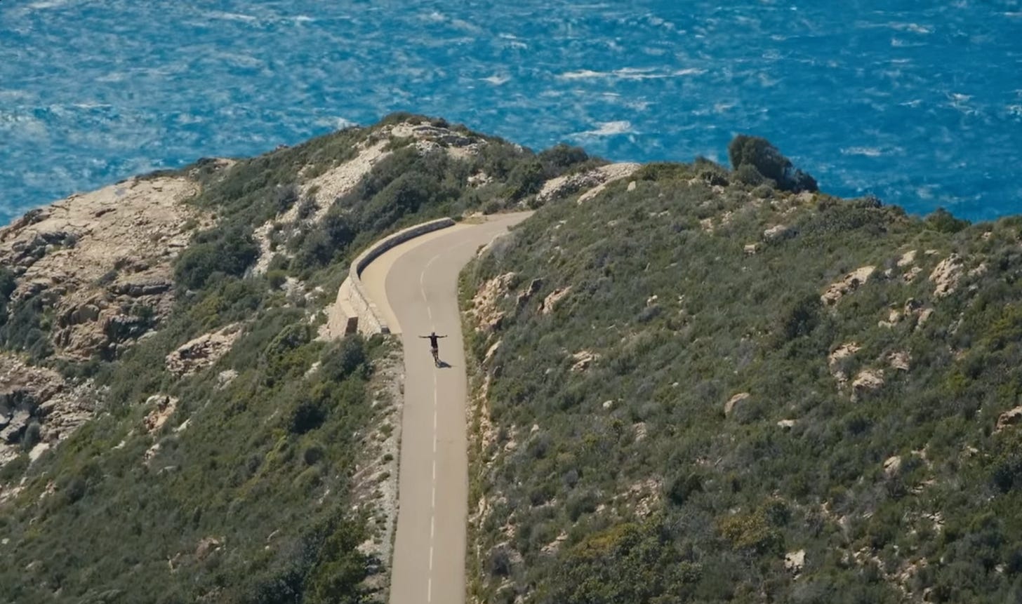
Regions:
<instances>
[{"instance_id":1,"label":"scrub-covered hillside right of the road, dotted with small pale rocks","mask_svg":"<svg viewBox=\"0 0 1022 604\"><path fill-rule=\"evenodd\" d=\"M1022 219L786 188L645 166L466 269L477 601L1022 597Z\"/></svg>"}]
</instances>

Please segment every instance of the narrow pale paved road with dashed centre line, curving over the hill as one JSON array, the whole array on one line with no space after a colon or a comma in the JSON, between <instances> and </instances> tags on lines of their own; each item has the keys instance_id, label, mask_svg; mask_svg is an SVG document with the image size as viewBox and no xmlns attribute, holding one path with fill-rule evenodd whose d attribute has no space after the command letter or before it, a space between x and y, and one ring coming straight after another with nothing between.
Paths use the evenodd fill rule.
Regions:
<instances>
[{"instance_id":1,"label":"narrow pale paved road with dashed centre line, curving over the hill","mask_svg":"<svg viewBox=\"0 0 1022 604\"><path fill-rule=\"evenodd\" d=\"M399 476L391 604L465 600L468 458L466 377L458 273L479 245L528 214L459 224L404 243L374 261L363 282L405 346L405 411ZM430 331L444 367L434 367Z\"/></svg>"}]
</instances>

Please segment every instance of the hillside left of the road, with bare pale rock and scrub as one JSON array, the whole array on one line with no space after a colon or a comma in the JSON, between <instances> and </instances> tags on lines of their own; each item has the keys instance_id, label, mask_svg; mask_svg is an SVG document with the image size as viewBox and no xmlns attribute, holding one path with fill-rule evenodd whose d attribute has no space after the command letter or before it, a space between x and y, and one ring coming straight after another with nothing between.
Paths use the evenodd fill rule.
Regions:
<instances>
[{"instance_id":1,"label":"hillside left of the road, with bare pale rock and scrub","mask_svg":"<svg viewBox=\"0 0 1022 604\"><path fill-rule=\"evenodd\" d=\"M0 600L384 600L400 347L329 337L349 264L602 164L396 114L0 229Z\"/></svg>"}]
</instances>

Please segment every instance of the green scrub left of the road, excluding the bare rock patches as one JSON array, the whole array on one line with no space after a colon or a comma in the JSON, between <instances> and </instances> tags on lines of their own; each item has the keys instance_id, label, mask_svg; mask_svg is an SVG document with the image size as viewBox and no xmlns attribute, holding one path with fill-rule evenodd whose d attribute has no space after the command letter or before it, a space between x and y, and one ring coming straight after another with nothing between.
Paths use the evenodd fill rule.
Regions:
<instances>
[{"instance_id":1,"label":"green scrub left of the road, excluding the bare rock patches","mask_svg":"<svg viewBox=\"0 0 1022 604\"><path fill-rule=\"evenodd\" d=\"M351 192L317 198L303 188L356 157L363 141L385 139L380 129L393 124L447 127L399 114L250 159L202 159L149 175L199 182L188 202L215 224L176 260L173 311L115 359L54 358L45 303L11 303L18 276L0 267L0 344L72 383L92 380L97 398L95 418L65 440L36 461L25 453L0 468L7 496L0 600L383 597L389 560L359 546L386 519L359 503L365 494L353 492L353 476L374 461L364 459L360 443L389 404L380 400L386 388L378 365L394 344L379 336L317 338L322 310L351 260L376 238L483 205L510 206L543 179L593 161L579 149L537 154L451 127L484 142L454 157L391 140L392 152ZM480 172L485 183L470 185ZM273 231L278 251L269 270L253 272L257 230L296 205L297 222ZM240 326L238 339L211 366L184 376L168 369L170 353L232 324ZM160 413L168 417L157 422ZM31 432L15 434L26 452L36 444Z\"/></svg>"}]
</instances>

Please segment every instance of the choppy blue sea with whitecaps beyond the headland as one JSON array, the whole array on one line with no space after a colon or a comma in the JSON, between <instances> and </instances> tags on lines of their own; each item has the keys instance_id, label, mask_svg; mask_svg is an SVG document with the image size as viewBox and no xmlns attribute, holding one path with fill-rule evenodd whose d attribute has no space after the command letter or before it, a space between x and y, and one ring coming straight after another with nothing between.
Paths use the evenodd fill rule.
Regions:
<instances>
[{"instance_id":1,"label":"choppy blue sea with whitecaps beyond the headland","mask_svg":"<svg viewBox=\"0 0 1022 604\"><path fill-rule=\"evenodd\" d=\"M747 132L833 193L1022 213L1022 2L738 4L0 0L0 224L392 110L619 160Z\"/></svg>"}]
</instances>

